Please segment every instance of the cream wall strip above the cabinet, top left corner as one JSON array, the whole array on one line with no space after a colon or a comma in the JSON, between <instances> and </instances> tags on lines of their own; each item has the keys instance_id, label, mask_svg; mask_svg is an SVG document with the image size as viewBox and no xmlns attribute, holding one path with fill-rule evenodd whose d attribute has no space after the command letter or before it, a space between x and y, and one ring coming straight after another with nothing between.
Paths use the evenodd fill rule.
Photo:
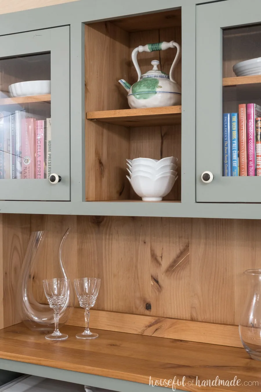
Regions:
<instances>
[{"instance_id":1,"label":"cream wall strip above the cabinet, top left corner","mask_svg":"<svg viewBox=\"0 0 261 392\"><path fill-rule=\"evenodd\" d=\"M1 0L0 14L9 12L24 11L25 9L46 7L47 5L69 3L77 0Z\"/></svg>"}]
</instances>

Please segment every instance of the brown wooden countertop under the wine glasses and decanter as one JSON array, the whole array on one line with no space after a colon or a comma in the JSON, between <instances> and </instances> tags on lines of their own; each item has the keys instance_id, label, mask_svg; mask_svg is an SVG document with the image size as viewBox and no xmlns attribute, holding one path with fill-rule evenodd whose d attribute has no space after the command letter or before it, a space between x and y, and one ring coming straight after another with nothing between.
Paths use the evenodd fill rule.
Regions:
<instances>
[{"instance_id":1,"label":"brown wooden countertop under the wine glasses and decanter","mask_svg":"<svg viewBox=\"0 0 261 392\"><path fill-rule=\"evenodd\" d=\"M65 325L65 341L47 341L44 334L31 332L22 323L0 331L0 358L36 365L61 368L98 376L149 384L160 379L190 382L176 389L191 392L209 391L209 387L196 385L198 380L233 380L237 387L214 387L214 390L254 392L261 386L261 362L250 359L243 348L193 343L153 336L97 330L99 338L78 340L77 332L83 328ZM192 383L192 381L194 382ZM245 386L258 381L259 386ZM172 388L172 385L169 386Z\"/></svg>"}]
</instances>

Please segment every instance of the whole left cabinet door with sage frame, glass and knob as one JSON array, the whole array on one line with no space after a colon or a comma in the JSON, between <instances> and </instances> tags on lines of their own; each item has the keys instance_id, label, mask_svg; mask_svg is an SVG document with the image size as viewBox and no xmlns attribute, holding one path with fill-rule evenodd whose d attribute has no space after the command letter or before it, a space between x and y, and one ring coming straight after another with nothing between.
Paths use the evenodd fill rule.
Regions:
<instances>
[{"instance_id":1,"label":"whole left cabinet door with sage frame, glass and knob","mask_svg":"<svg viewBox=\"0 0 261 392\"><path fill-rule=\"evenodd\" d=\"M69 42L68 26L0 37L0 200L70 200Z\"/></svg>"}]
</instances>

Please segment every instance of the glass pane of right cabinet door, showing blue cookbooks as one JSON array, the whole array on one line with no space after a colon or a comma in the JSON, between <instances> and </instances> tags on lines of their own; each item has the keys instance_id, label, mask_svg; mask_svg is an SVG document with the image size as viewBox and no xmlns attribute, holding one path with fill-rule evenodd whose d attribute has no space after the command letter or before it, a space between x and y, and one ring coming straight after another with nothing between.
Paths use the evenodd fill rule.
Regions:
<instances>
[{"instance_id":1,"label":"glass pane of right cabinet door, showing blue cookbooks","mask_svg":"<svg viewBox=\"0 0 261 392\"><path fill-rule=\"evenodd\" d=\"M261 176L261 25L223 30L223 176Z\"/></svg>"}]
</instances>

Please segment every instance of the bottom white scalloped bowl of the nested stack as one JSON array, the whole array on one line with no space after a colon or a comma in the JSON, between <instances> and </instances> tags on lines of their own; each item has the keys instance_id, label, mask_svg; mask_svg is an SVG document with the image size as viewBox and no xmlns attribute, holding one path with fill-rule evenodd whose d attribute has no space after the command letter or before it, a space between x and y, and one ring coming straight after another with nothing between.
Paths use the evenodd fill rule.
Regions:
<instances>
[{"instance_id":1,"label":"bottom white scalloped bowl of the nested stack","mask_svg":"<svg viewBox=\"0 0 261 392\"><path fill-rule=\"evenodd\" d=\"M135 193L142 198L143 201L161 201L172 189L177 176L161 176L156 180L152 180L147 176L135 175L131 178L126 176L133 187Z\"/></svg>"}]
</instances>

